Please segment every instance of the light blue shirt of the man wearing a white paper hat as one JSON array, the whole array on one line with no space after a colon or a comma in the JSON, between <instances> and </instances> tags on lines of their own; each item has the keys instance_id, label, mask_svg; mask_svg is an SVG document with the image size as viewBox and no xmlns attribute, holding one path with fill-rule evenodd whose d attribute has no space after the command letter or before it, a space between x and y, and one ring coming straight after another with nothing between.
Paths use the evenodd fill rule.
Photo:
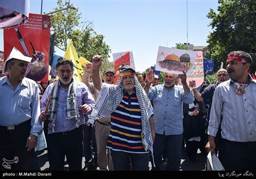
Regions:
<instances>
[{"instance_id":1,"label":"light blue shirt of the man wearing a white paper hat","mask_svg":"<svg viewBox=\"0 0 256 179\"><path fill-rule=\"evenodd\" d=\"M7 77L0 78L0 125L19 125L31 119L30 133L42 132L39 88L35 81L24 78L16 89Z\"/></svg>"}]
</instances>

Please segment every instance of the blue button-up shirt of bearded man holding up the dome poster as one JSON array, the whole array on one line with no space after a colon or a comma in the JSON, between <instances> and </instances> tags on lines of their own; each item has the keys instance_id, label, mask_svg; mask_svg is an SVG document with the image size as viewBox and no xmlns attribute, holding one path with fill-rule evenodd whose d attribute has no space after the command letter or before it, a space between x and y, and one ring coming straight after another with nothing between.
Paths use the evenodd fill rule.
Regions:
<instances>
[{"instance_id":1,"label":"blue button-up shirt of bearded man holding up the dome poster","mask_svg":"<svg viewBox=\"0 0 256 179\"><path fill-rule=\"evenodd\" d=\"M154 105L156 133L166 136L182 134L182 102L186 104L194 102L192 89L186 95L182 86L174 85L172 89L168 90L164 84L158 84L152 86L147 95Z\"/></svg>"}]
</instances>

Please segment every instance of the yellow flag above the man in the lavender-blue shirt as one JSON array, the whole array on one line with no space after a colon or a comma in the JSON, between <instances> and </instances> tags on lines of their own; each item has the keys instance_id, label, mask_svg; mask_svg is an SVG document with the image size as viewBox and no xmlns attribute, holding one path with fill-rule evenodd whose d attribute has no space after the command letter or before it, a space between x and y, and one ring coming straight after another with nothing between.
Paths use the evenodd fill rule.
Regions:
<instances>
[{"instance_id":1,"label":"yellow flag above the man in the lavender-blue shirt","mask_svg":"<svg viewBox=\"0 0 256 179\"><path fill-rule=\"evenodd\" d=\"M63 58L70 59L72 63L74 64L74 74L73 77L76 79L76 81L82 81L81 80L81 74L83 74L84 70L81 66L81 63L79 62L79 58L77 56L76 49L72 43L72 39L70 39L67 47L67 51L65 52L65 55Z\"/></svg>"}]
</instances>

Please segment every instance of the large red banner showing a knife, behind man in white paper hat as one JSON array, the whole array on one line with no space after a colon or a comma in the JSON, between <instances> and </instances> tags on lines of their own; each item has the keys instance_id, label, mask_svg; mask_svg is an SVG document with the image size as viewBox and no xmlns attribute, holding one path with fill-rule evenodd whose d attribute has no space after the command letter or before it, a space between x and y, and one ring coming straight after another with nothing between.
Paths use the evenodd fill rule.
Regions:
<instances>
[{"instance_id":1,"label":"large red banner showing a knife, behind man in white paper hat","mask_svg":"<svg viewBox=\"0 0 256 179\"><path fill-rule=\"evenodd\" d=\"M49 15L29 13L26 24L4 29L4 61L13 47L31 56L26 77L34 81L48 81L50 22Z\"/></svg>"}]
</instances>

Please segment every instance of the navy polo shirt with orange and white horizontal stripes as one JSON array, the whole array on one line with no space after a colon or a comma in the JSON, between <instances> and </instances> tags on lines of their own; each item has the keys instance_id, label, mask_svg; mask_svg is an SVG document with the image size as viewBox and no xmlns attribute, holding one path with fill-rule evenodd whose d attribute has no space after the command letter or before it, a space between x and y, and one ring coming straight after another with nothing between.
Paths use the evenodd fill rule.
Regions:
<instances>
[{"instance_id":1,"label":"navy polo shirt with orange and white horizontal stripes","mask_svg":"<svg viewBox=\"0 0 256 179\"><path fill-rule=\"evenodd\" d=\"M141 141L141 109L136 93L124 91L122 102L111 113L107 148L128 153L147 153Z\"/></svg>"}]
</instances>

